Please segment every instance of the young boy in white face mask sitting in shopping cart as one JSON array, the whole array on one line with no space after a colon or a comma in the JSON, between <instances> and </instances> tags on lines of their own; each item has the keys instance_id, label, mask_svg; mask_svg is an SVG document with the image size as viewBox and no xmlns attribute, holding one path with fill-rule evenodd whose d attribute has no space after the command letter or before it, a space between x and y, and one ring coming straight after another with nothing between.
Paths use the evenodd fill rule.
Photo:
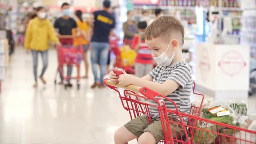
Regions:
<instances>
[{"instance_id":1,"label":"young boy in white face mask sitting in shopping cart","mask_svg":"<svg viewBox=\"0 0 256 144\"><path fill-rule=\"evenodd\" d=\"M128 75L123 71L123 75L119 77L112 72L110 80L121 86L148 87L175 101L179 111L189 113L192 72L181 52L184 43L184 27L181 22L174 16L160 16L146 28L144 39L158 66L143 78ZM171 102L165 103L167 108L176 111ZM115 131L115 144L127 144L135 138L138 138L138 144L156 144L164 139L158 109L151 107L150 112L152 124L148 123L146 115L129 121ZM183 135L184 132L182 129L172 131L177 135Z\"/></svg>"}]
</instances>

